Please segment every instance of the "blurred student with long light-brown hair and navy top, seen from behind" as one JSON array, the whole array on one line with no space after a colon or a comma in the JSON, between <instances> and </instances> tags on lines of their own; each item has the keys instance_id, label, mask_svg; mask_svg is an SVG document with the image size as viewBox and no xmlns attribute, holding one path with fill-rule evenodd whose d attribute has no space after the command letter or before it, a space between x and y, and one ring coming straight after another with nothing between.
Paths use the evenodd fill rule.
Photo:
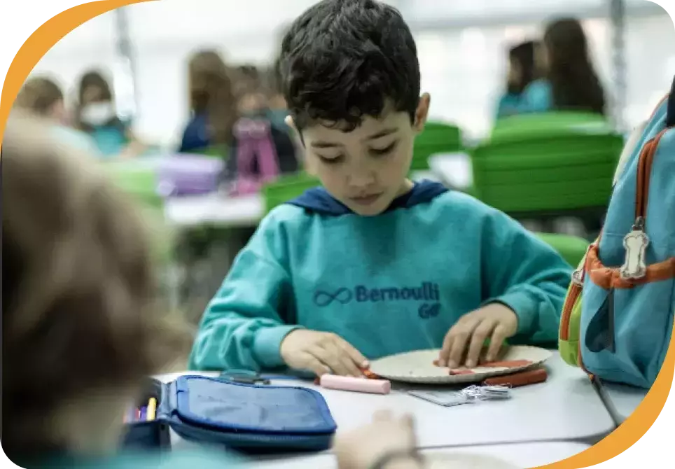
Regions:
<instances>
[{"instance_id":1,"label":"blurred student with long light-brown hair and navy top, seen from behind","mask_svg":"<svg viewBox=\"0 0 675 469\"><path fill-rule=\"evenodd\" d=\"M218 52L202 50L190 58L188 86L192 116L179 151L200 153L216 148L218 154L228 155L239 115L232 77Z\"/></svg>"}]
</instances>

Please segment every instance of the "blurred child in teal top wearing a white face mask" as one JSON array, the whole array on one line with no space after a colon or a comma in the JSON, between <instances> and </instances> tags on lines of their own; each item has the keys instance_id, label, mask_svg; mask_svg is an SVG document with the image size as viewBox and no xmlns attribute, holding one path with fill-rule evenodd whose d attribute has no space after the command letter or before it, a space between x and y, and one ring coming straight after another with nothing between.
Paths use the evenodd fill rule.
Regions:
<instances>
[{"instance_id":1,"label":"blurred child in teal top wearing a white face mask","mask_svg":"<svg viewBox=\"0 0 675 469\"><path fill-rule=\"evenodd\" d=\"M130 123L118 117L111 87L98 71L88 71L80 79L75 120L108 157L132 158L146 149L134 136Z\"/></svg>"}]
</instances>

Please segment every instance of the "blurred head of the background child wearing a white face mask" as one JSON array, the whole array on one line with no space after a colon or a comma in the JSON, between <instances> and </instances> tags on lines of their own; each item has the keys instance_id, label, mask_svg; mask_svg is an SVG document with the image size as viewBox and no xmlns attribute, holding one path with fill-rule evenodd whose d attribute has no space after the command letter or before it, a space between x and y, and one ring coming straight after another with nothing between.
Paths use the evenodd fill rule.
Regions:
<instances>
[{"instance_id":1,"label":"blurred head of the background child wearing a white face mask","mask_svg":"<svg viewBox=\"0 0 675 469\"><path fill-rule=\"evenodd\" d=\"M113 92L102 73L98 71L85 73L78 86L76 120L79 127L90 130L109 125L117 118Z\"/></svg>"}]
</instances>

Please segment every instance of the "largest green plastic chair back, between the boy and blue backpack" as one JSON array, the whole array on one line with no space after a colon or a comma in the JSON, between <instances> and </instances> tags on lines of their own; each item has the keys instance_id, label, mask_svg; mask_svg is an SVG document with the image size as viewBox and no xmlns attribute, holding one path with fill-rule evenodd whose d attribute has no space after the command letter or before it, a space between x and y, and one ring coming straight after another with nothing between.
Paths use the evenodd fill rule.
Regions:
<instances>
[{"instance_id":1,"label":"largest green plastic chair back, between the boy and blue backpack","mask_svg":"<svg viewBox=\"0 0 675 469\"><path fill-rule=\"evenodd\" d=\"M472 152L474 193L517 218L601 211L622 147L622 136L601 116L506 118Z\"/></svg>"}]
</instances>

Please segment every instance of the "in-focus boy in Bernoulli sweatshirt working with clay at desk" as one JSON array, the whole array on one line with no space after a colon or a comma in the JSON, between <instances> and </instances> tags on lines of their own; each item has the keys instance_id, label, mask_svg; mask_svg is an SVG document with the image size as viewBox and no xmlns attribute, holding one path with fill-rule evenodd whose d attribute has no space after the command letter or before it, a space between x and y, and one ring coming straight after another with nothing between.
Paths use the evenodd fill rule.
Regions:
<instances>
[{"instance_id":1,"label":"in-focus boy in Bernoulli sweatshirt working with clay at desk","mask_svg":"<svg viewBox=\"0 0 675 469\"><path fill-rule=\"evenodd\" d=\"M400 13L323 0L281 51L285 94L323 185L274 209L200 324L190 365L361 375L368 359L441 348L488 360L503 339L553 342L571 267L520 224L407 179L429 94Z\"/></svg>"}]
</instances>

